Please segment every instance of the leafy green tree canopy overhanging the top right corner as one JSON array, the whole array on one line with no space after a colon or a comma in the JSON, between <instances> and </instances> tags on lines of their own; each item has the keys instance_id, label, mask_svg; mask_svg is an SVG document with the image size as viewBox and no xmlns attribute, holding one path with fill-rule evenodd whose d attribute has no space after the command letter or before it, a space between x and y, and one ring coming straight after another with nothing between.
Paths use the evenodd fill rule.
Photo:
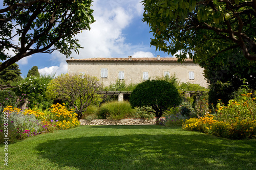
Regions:
<instances>
[{"instance_id":1,"label":"leafy green tree canopy overhanging the top right corner","mask_svg":"<svg viewBox=\"0 0 256 170\"><path fill-rule=\"evenodd\" d=\"M156 49L195 61L240 49L256 60L256 0L144 0L143 21ZM227 57L227 56L222 56ZM218 61L221 63L221 61Z\"/></svg>"}]
</instances>

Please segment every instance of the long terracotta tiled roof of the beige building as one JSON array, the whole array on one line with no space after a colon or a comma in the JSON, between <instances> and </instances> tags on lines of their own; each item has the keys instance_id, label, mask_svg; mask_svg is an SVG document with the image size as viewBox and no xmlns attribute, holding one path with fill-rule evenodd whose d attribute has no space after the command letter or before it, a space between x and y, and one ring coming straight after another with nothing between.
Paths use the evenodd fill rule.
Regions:
<instances>
[{"instance_id":1,"label":"long terracotta tiled roof of the beige building","mask_svg":"<svg viewBox=\"0 0 256 170\"><path fill-rule=\"evenodd\" d=\"M177 62L177 58L161 57L158 60L156 57L152 58L84 58L84 59L69 59L67 62ZM191 59L186 59L184 62L193 62Z\"/></svg>"}]
</instances>

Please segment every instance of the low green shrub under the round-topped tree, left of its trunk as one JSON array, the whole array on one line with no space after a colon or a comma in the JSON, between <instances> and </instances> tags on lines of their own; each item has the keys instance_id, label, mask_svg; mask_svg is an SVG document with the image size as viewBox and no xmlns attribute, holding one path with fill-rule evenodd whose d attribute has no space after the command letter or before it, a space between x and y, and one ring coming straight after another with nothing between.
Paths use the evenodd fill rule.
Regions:
<instances>
[{"instance_id":1,"label":"low green shrub under the round-topped tree, left of its trunk","mask_svg":"<svg viewBox=\"0 0 256 170\"><path fill-rule=\"evenodd\" d=\"M131 118L144 118L144 119L152 119L155 117L152 107L136 107L134 111L129 114Z\"/></svg>"}]
</instances>

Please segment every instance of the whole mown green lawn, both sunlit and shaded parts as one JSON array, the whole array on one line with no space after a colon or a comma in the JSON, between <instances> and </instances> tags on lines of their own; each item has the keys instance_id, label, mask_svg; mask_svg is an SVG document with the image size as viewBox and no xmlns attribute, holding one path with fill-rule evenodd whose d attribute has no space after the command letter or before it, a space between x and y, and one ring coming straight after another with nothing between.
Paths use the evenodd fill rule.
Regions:
<instances>
[{"instance_id":1,"label":"whole mown green lawn, both sunlit and shaded parts","mask_svg":"<svg viewBox=\"0 0 256 170\"><path fill-rule=\"evenodd\" d=\"M229 140L181 127L80 126L8 145L0 169L254 169L256 140Z\"/></svg>"}]
</instances>

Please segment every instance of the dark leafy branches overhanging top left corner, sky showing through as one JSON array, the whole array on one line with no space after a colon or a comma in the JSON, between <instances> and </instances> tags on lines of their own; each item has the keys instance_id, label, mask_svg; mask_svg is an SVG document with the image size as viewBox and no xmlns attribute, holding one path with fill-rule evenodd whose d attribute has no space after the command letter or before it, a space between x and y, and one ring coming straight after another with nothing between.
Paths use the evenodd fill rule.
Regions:
<instances>
[{"instance_id":1,"label":"dark leafy branches overhanging top left corner, sky showing through","mask_svg":"<svg viewBox=\"0 0 256 170\"><path fill-rule=\"evenodd\" d=\"M36 54L59 51L67 57L81 47L75 35L90 30L95 20L92 0L4 0L0 9L0 71ZM14 34L12 34L14 30ZM18 43L12 41L18 39ZM11 56L8 51L13 51Z\"/></svg>"}]
</instances>

